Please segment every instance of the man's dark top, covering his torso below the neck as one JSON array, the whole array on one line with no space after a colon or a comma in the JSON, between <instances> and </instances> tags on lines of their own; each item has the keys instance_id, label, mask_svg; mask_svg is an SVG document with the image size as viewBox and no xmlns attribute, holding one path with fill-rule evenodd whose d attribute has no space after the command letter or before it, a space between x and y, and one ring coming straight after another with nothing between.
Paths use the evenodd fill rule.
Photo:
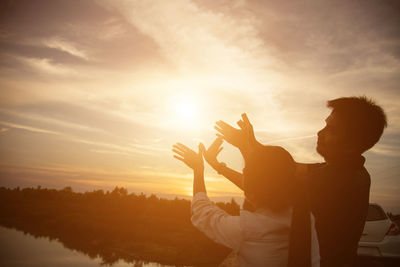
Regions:
<instances>
[{"instance_id":1,"label":"man's dark top, covering his torso below the neck","mask_svg":"<svg viewBox=\"0 0 400 267\"><path fill-rule=\"evenodd\" d=\"M365 158L311 164L309 192L321 267L353 266L368 212L370 176Z\"/></svg>"}]
</instances>

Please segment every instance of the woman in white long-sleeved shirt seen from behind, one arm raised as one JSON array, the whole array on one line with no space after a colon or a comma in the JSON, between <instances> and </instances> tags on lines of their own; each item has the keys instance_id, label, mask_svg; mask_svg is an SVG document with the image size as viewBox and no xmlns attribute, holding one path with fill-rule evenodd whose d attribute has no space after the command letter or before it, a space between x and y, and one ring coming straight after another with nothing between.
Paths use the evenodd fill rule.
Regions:
<instances>
[{"instance_id":1,"label":"woman in white long-sleeved shirt seen from behind, one arm raised","mask_svg":"<svg viewBox=\"0 0 400 267\"><path fill-rule=\"evenodd\" d=\"M204 184L203 144L198 152L177 143L174 157L193 169L192 223L209 238L232 248L240 266L288 266L293 206L297 190L294 180L295 163L281 147L263 146L246 157L243 170L243 189L253 211L241 210L231 216L207 197ZM295 209L298 210L298 209ZM319 266L319 248L310 213L309 256L301 265ZM306 216L306 217L307 217ZM306 231L307 233L307 231ZM307 237L307 234L305 235ZM293 258L293 257L292 257ZM306 264L303 264L306 262ZM293 264L293 263L291 263ZM299 266L301 266L299 265Z\"/></svg>"}]
</instances>

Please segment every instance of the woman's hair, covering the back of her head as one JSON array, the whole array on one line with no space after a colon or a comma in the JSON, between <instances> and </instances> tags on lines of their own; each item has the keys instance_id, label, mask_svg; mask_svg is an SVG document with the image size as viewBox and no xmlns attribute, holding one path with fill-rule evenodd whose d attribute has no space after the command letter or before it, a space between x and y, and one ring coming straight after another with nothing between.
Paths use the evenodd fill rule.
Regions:
<instances>
[{"instance_id":1,"label":"woman's hair, covering the back of her head","mask_svg":"<svg viewBox=\"0 0 400 267\"><path fill-rule=\"evenodd\" d=\"M246 158L244 193L257 206L279 211L292 205L295 163L282 147L263 146Z\"/></svg>"}]
</instances>

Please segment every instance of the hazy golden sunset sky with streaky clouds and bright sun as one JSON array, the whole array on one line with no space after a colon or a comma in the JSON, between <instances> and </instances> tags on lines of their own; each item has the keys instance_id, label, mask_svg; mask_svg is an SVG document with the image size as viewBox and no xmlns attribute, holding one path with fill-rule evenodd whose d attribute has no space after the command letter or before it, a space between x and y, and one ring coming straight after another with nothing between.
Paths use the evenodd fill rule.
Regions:
<instances>
[{"instance_id":1,"label":"hazy golden sunset sky with streaky clouds and bright sun","mask_svg":"<svg viewBox=\"0 0 400 267\"><path fill-rule=\"evenodd\" d=\"M257 139L322 162L326 101L366 95L388 127L370 202L400 212L396 1L2 1L0 186L190 196L176 142L246 112ZM219 160L240 171L229 144ZM215 199L242 193L206 167Z\"/></svg>"}]
</instances>

